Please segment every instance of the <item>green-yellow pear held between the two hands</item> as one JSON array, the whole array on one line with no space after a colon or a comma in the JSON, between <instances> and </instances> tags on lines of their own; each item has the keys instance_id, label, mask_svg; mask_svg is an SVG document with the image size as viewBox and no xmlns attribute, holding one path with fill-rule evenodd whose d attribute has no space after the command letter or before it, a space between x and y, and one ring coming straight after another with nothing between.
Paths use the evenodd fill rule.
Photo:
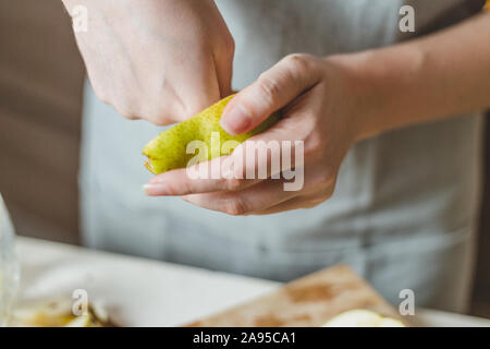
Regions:
<instances>
[{"instance_id":1,"label":"green-yellow pear held between the two hands","mask_svg":"<svg viewBox=\"0 0 490 349\"><path fill-rule=\"evenodd\" d=\"M206 143L209 149L211 149L211 134L213 132L219 133L221 145L228 141L235 141L243 143L249 137L257 135L272 124L279 121L279 113L273 113L260 125L250 132L231 135L224 131L220 125L221 116L224 108L235 95L229 96L217 104L210 106L193 118L181 122L150 141L143 149L143 155L148 159L145 163L146 168L154 174L163 173L173 169L184 168L188 161L195 157L195 154L187 154L187 145L192 141L201 141ZM201 154L199 154L200 156ZM198 163L207 161L219 156L228 155L223 149L220 149L219 154L210 151L203 155Z\"/></svg>"}]
</instances>

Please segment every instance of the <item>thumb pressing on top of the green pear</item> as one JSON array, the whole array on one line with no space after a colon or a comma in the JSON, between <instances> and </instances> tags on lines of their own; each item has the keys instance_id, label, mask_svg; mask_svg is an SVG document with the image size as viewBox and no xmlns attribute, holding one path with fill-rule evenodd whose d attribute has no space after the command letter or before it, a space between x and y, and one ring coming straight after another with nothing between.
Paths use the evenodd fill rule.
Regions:
<instances>
[{"instance_id":1,"label":"thumb pressing on top of the green pear","mask_svg":"<svg viewBox=\"0 0 490 349\"><path fill-rule=\"evenodd\" d=\"M221 127L230 134L242 134L259 125L319 81L317 60L306 55L282 59L230 101Z\"/></svg>"}]
</instances>

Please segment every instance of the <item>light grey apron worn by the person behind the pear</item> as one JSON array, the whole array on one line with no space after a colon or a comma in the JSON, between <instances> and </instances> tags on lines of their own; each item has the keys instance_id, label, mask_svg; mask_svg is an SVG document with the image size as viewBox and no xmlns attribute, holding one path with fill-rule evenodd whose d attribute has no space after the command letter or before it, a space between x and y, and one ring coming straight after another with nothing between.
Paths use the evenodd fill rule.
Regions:
<instances>
[{"instance_id":1,"label":"light grey apron worn by the person behind the pear","mask_svg":"<svg viewBox=\"0 0 490 349\"><path fill-rule=\"evenodd\" d=\"M478 11L465 0L221 0L236 40L234 88L292 52L327 56L408 39ZM150 49L150 48L148 48ZM416 103L416 101L414 101ZM362 111L359 111L362 112ZM140 152L161 128L127 121L85 95L82 217L85 243L109 251L275 280L347 263L388 300L463 310L478 208L480 117L412 127L355 145L333 197L311 209L231 217L179 198L150 198Z\"/></svg>"}]
</instances>

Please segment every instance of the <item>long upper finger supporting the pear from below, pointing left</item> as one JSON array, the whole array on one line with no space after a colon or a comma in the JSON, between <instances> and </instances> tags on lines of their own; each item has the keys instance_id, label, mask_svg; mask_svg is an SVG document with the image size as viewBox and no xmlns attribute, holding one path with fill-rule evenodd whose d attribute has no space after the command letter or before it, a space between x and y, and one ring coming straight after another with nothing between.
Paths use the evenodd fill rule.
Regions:
<instances>
[{"instance_id":1,"label":"long upper finger supporting the pear from below, pointing left","mask_svg":"<svg viewBox=\"0 0 490 349\"><path fill-rule=\"evenodd\" d=\"M307 133L308 129L304 132ZM182 196L238 191L267 179L294 179L294 183L298 185L329 185L333 182L333 176L324 174L321 166L324 159L319 160L316 156L305 158L303 141L292 141L294 137L302 140L305 134L295 124L295 118L283 119L273 129L240 145L231 156L158 174L144 190L150 196ZM249 146L255 141L258 141L258 145ZM250 153L254 156L247 156ZM306 167L309 169L308 173L305 173ZM204 174L201 168L205 169ZM305 174L308 174L307 179Z\"/></svg>"}]
</instances>

